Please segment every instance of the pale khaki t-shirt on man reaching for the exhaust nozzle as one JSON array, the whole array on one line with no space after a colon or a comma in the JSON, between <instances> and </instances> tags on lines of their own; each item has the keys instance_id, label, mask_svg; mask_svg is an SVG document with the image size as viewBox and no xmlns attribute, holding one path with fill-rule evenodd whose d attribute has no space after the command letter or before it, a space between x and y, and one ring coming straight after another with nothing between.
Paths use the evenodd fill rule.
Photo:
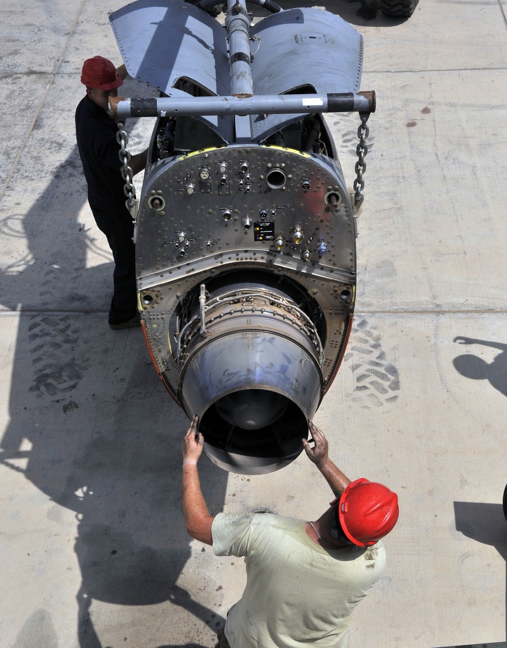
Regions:
<instances>
[{"instance_id":1,"label":"pale khaki t-shirt on man reaching for the exhaust nozzle","mask_svg":"<svg viewBox=\"0 0 507 648\"><path fill-rule=\"evenodd\" d=\"M384 570L384 546L323 549L304 525L269 513L214 519L214 553L244 556L247 568L225 625L231 648L346 648L350 614Z\"/></svg>"}]
</instances>

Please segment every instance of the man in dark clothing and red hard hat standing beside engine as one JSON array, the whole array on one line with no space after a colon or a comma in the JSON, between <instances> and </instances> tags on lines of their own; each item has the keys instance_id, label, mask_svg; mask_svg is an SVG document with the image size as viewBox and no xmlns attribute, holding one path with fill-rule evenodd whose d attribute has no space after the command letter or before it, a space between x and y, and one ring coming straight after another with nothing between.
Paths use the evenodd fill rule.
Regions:
<instances>
[{"instance_id":1,"label":"man in dark clothing and red hard hat standing beside engine","mask_svg":"<svg viewBox=\"0 0 507 648\"><path fill-rule=\"evenodd\" d=\"M126 76L124 66L119 68ZM114 293L109 310L111 329L140 326L135 284L135 245L132 217L125 205L121 150L117 124L107 110L109 97L118 96L123 79L107 58L85 60L81 82L86 95L76 108L76 139L88 185L88 202L98 229L106 237L115 260ZM146 165L147 151L132 156L133 174Z\"/></svg>"}]
</instances>

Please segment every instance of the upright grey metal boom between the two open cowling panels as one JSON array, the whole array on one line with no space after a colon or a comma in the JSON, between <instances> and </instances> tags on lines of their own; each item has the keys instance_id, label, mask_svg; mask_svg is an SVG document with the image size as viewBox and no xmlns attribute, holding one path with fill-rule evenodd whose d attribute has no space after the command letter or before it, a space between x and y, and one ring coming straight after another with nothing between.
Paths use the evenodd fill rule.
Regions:
<instances>
[{"instance_id":1,"label":"upright grey metal boom between the two open cowling panels","mask_svg":"<svg viewBox=\"0 0 507 648\"><path fill-rule=\"evenodd\" d=\"M225 28L229 41L229 71L232 97L252 97L253 81L250 66L251 21L245 0L227 0Z\"/></svg>"}]
</instances>

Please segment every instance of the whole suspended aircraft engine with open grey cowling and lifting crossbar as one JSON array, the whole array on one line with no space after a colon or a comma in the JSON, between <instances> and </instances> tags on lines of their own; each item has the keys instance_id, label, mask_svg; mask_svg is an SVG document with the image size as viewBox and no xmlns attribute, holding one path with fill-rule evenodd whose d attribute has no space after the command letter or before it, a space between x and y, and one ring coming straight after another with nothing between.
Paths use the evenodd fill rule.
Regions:
<instances>
[{"instance_id":1,"label":"whole suspended aircraft engine with open grey cowling and lifting crossbar","mask_svg":"<svg viewBox=\"0 0 507 648\"><path fill-rule=\"evenodd\" d=\"M300 454L344 354L375 98L359 93L362 38L338 16L256 0L273 14L252 25L228 0L224 29L215 4L111 14L128 72L159 97L110 110L157 117L139 207L126 188L153 364L211 461L260 474ZM338 111L362 120L352 196L322 117Z\"/></svg>"}]
</instances>

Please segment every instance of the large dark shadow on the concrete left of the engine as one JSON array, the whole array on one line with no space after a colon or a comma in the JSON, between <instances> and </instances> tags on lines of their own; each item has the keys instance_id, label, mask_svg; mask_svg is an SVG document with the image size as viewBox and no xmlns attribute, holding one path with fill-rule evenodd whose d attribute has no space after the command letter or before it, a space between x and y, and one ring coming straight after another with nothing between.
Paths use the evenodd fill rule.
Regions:
<instances>
[{"instance_id":1,"label":"large dark shadow on the concrete left of the engine","mask_svg":"<svg viewBox=\"0 0 507 648\"><path fill-rule=\"evenodd\" d=\"M189 561L194 569L199 561L192 557L179 495L188 419L157 378L141 330L107 327L113 264L86 268L87 246L102 235L78 223L86 192L76 148L47 173L45 191L23 216L30 262L0 276L1 305L21 310L0 461L56 503L48 514L52 522L62 522L62 506L76 513L81 648L102 648L93 601L132 606L132 623L134 606L169 601L186 610L178 618L188 624L185 640L196 641L188 648L214 645L206 627L216 631L225 619L177 582ZM13 177L9 191L15 185ZM61 240L46 233L54 218L62 218ZM90 286L104 294L94 295ZM26 468L17 459L25 459ZM216 513L227 472L206 457L199 467ZM63 564L58 577L65 580ZM129 618L128 611L122 614ZM29 620L16 648L39 645L38 624Z\"/></svg>"}]
</instances>

